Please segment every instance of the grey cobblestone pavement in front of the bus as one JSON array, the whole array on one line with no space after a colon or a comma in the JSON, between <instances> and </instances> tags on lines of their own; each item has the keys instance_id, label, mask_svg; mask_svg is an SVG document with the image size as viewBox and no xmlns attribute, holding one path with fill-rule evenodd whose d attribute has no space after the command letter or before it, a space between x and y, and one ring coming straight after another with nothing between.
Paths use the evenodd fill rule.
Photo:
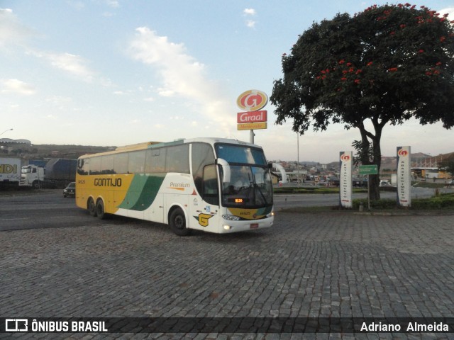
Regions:
<instances>
[{"instance_id":1,"label":"grey cobblestone pavement in front of the bus","mask_svg":"<svg viewBox=\"0 0 454 340\"><path fill-rule=\"evenodd\" d=\"M226 235L177 237L165 225L135 220L0 232L0 317L454 317L453 229L452 215L279 212L271 229ZM440 333L13 335L454 339Z\"/></svg>"}]
</instances>

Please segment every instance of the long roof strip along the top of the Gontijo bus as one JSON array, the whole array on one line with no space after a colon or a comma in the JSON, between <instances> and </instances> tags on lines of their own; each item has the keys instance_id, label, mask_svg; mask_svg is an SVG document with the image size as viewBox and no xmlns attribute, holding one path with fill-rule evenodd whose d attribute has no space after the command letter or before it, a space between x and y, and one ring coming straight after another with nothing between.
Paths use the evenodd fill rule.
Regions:
<instances>
[{"instance_id":1,"label":"long roof strip along the top of the Gontijo bus","mask_svg":"<svg viewBox=\"0 0 454 340\"><path fill-rule=\"evenodd\" d=\"M138 150L143 150L143 149L153 149L155 147L169 147L171 145L180 145L180 144L187 144L187 143L194 143L194 142L205 142L205 143L210 143L210 144L226 143L226 144L236 144L236 145L247 145L249 147L258 147L260 149L262 148L258 145L254 145L249 142L242 142L240 140L231 140L228 138L217 138L217 137L197 137L197 138L175 140L173 142L143 142L143 143L138 143L138 144L125 145L123 147L117 147L114 151L99 152L97 154L84 154L79 158L89 158L89 157L101 156L101 155L118 154L121 152L138 151Z\"/></svg>"}]
</instances>

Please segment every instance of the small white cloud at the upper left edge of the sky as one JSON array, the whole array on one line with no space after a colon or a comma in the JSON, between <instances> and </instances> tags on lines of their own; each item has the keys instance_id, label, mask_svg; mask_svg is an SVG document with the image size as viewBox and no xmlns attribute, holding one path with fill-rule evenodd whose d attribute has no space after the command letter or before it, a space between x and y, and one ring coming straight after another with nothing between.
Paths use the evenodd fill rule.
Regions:
<instances>
[{"instance_id":1,"label":"small white cloud at the upper left edge of the sky","mask_svg":"<svg viewBox=\"0 0 454 340\"><path fill-rule=\"evenodd\" d=\"M9 8L0 8L0 47L22 45L33 35L33 30L23 26Z\"/></svg>"}]
</instances>

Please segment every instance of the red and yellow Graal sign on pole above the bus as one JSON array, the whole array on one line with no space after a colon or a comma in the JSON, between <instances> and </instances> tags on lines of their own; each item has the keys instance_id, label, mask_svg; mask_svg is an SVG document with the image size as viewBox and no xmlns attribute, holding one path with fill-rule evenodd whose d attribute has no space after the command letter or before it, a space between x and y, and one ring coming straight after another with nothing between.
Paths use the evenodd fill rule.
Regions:
<instances>
[{"instance_id":1,"label":"red and yellow Graal sign on pole above the bus","mask_svg":"<svg viewBox=\"0 0 454 340\"><path fill-rule=\"evenodd\" d=\"M238 112L238 130L250 130L250 143L254 144L254 130L267 128L267 111L260 110L268 103L268 96L259 90L249 90L238 96L236 105L245 112Z\"/></svg>"}]
</instances>

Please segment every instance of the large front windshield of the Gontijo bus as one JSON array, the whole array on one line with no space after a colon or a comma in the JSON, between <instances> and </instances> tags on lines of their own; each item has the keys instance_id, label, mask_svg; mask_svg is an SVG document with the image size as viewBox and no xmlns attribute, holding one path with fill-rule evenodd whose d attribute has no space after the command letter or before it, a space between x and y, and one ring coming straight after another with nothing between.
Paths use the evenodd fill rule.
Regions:
<instances>
[{"instance_id":1,"label":"large front windshield of the Gontijo bus","mask_svg":"<svg viewBox=\"0 0 454 340\"><path fill-rule=\"evenodd\" d=\"M223 206L261 208L272 205L272 181L262 149L216 145L216 153L230 164L230 181L222 183Z\"/></svg>"}]
</instances>

